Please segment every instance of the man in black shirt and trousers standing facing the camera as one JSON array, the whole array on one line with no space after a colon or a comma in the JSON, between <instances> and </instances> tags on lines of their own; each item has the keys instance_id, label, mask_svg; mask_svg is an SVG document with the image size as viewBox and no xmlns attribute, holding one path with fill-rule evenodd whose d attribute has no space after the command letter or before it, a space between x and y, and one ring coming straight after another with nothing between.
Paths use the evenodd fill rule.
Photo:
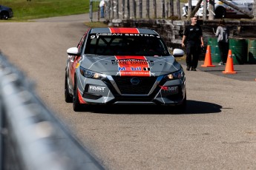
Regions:
<instances>
[{"instance_id":1,"label":"man in black shirt and trousers standing facing the camera","mask_svg":"<svg viewBox=\"0 0 256 170\"><path fill-rule=\"evenodd\" d=\"M185 45L186 44L186 45ZM183 33L182 47L186 47L186 70L197 71L198 59L203 47L203 32L200 25L197 24L197 16L191 18L189 24Z\"/></svg>"}]
</instances>

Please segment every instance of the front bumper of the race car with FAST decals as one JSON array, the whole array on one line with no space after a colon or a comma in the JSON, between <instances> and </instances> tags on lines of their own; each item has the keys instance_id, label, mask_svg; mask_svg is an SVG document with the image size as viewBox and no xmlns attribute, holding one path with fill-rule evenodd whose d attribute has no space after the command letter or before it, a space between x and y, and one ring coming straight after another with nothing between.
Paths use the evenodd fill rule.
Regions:
<instances>
[{"instance_id":1,"label":"front bumper of the race car with FAST decals","mask_svg":"<svg viewBox=\"0 0 256 170\"><path fill-rule=\"evenodd\" d=\"M163 81L158 78L142 78L141 84L128 84L132 77L104 80L79 75L77 84L82 101L88 104L151 104L179 105L186 97L186 78ZM143 83L144 82L144 83Z\"/></svg>"}]
</instances>

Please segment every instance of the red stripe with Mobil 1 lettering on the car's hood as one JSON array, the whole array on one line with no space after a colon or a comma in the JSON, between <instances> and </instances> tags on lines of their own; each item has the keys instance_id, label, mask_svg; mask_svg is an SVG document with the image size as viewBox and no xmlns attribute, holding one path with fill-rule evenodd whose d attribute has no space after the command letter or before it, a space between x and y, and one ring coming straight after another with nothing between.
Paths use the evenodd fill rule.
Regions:
<instances>
[{"instance_id":1,"label":"red stripe with Mobil 1 lettering on the car's hood","mask_svg":"<svg viewBox=\"0 0 256 170\"><path fill-rule=\"evenodd\" d=\"M134 61L147 61L144 56L117 56L117 61L125 61L118 63L119 75L123 76L151 76L148 62L134 64Z\"/></svg>"}]
</instances>

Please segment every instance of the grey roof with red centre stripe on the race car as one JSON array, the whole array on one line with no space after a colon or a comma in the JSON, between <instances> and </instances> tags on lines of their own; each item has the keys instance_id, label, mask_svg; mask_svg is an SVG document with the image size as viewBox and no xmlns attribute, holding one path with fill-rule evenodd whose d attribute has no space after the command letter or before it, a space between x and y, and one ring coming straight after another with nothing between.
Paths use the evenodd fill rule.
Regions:
<instances>
[{"instance_id":1,"label":"grey roof with red centre stripe on the race car","mask_svg":"<svg viewBox=\"0 0 256 170\"><path fill-rule=\"evenodd\" d=\"M159 35L154 30L134 27L105 27L92 28L90 33L129 33L129 34L153 34Z\"/></svg>"}]
</instances>

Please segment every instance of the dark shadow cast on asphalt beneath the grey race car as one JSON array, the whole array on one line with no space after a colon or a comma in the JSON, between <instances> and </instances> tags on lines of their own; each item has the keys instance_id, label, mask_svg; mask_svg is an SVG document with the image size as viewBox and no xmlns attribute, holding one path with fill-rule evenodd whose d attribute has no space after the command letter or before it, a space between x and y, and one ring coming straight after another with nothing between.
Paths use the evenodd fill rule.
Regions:
<instances>
[{"instance_id":1,"label":"dark shadow cast on asphalt beneath the grey race car","mask_svg":"<svg viewBox=\"0 0 256 170\"><path fill-rule=\"evenodd\" d=\"M221 112L222 106L204 101L187 101L186 111L180 111L174 106L151 105L85 105L82 112L101 114L126 115L179 115L179 114L209 114Z\"/></svg>"}]
</instances>

